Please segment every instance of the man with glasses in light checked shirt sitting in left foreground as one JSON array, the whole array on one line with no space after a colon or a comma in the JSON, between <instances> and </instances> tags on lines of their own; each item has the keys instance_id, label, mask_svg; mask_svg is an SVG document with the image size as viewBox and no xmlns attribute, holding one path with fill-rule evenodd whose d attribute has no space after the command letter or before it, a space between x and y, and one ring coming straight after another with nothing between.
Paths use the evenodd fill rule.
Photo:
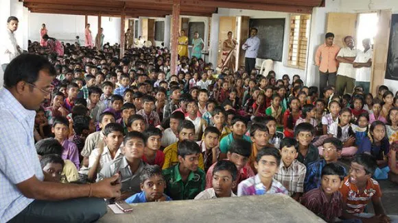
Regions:
<instances>
[{"instance_id":1,"label":"man with glasses in light checked shirt sitting in left foreground","mask_svg":"<svg viewBox=\"0 0 398 223\"><path fill-rule=\"evenodd\" d=\"M118 174L99 183L43 182L34 147L35 110L49 99L56 70L45 57L23 54L8 64L0 90L0 222L94 222L102 198L118 198Z\"/></svg>"}]
</instances>

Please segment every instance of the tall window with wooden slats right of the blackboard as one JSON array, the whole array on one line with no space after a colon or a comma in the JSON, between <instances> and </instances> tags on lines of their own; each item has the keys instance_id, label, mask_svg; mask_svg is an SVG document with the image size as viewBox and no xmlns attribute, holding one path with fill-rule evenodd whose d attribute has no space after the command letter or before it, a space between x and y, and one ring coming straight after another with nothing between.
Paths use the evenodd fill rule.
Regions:
<instances>
[{"instance_id":1,"label":"tall window with wooden slats right of the blackboard","mask_svg":"<svg viewBox=\"0 0 398 223\"><path fill-rule=\"evenodd\" d=\"M290 16L288 66L305 69L310 18L310 15Z\"/></svg>"}]
</instances>

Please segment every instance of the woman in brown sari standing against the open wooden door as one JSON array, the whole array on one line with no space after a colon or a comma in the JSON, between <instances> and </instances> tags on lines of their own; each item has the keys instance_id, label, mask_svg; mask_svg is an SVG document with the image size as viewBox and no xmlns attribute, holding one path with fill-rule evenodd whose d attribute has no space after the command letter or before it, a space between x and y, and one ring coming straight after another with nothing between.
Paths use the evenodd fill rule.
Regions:
<instances>
[{"instance_id":1,"label":"woman in brown sari standing against the open wooden door","mask_svg":"<svg viewBox=\"0 0 398 223\"><path fill-rule=\"evenodd\" d=\"M237 41L232 38L232 31L228 32L228 39L224 40L222 44L222 59L220 64L221 68L228 67L231 72L235 72L236 50Z\"/></svg>"}]
</instances>

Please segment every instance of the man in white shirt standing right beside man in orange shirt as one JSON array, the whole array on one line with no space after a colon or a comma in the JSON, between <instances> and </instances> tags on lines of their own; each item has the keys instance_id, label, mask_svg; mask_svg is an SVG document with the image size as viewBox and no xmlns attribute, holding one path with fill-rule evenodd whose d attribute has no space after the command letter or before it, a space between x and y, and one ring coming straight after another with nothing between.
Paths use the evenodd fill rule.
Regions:
<instances>
[{"instance_id":1,"label":"man in white shirt standing right beside man in orange shirt","mask_svg":"<svg viewBox=\"0 0 398 223\"><path fill-rule=\"evenodd\" d=\"M353 92L355 84L355 69L353 63L358 53L358 49L355 49L352 36L346 36L344 42L347 47L340 49L336 57L338 62L340 62L336 79L336 90L339 95L344 94L344 89L349 94Z\"/></svg>"}]
</instances>

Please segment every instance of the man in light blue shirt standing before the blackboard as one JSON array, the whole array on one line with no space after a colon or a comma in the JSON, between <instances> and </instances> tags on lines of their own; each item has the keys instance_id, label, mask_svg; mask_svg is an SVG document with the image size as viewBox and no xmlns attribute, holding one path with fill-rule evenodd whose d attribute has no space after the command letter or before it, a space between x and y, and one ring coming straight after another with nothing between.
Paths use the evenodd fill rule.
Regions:
<instances>
[{"instance_id":1,"label":"man in light blue shirt standing before the blackboard","mask_svg":"<svg viewBox=\"0 0 398 223\"><path fill-rule=\"evenodd\" d=\"M255 68L257 52L260 47L260 39L257 37L257 29L250 29L250 38L242 45L242 49L246 51L244 54L244 64L247 73Z\"/></svg>"}]
</instances>

